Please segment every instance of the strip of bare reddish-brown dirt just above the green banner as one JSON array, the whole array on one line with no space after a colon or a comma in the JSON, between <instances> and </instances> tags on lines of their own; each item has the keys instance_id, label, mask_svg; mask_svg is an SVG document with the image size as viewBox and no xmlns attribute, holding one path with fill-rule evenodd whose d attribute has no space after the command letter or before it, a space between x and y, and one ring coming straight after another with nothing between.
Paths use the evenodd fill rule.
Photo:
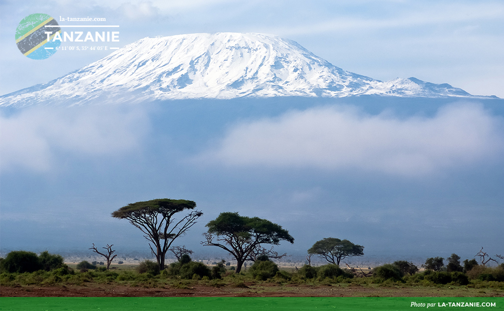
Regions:
<instances>
[{"instance_id":1,"label":"strip of bare reddish-brown dirt just above the green banner","mask_svg":"<svg viewBox=\"0 0 504 311\"><path fill-rule=\"evenodd\" d=\"M187 289L166 287L129 287L123 285L90 284L88 286L22 286L0 287L3 297L471 297L500 296L504 292L485 288L436 287L363 287L309 285L254 285L246 287L191 286Z\"/></svg>"}]
</instances>

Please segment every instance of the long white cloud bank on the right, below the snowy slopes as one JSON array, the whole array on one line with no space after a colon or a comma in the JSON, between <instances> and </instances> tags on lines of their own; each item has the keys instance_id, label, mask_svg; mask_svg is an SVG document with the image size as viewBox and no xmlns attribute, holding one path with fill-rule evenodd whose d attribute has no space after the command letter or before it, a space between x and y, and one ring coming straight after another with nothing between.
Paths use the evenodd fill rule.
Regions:
<instances>
[{"instance_id":1,"label":"long white cloud bank on the right, below the snowy slopes","mask_svg":"<svg viewBox=\"0 0 504 311\"><path fill-rule=\"evenodd\" d=\"M447 106L430 118L407 119L314 108L239 124L197 160L419 176L501 155L503 123L473 104Z\"/></svg>"}]
</instances>

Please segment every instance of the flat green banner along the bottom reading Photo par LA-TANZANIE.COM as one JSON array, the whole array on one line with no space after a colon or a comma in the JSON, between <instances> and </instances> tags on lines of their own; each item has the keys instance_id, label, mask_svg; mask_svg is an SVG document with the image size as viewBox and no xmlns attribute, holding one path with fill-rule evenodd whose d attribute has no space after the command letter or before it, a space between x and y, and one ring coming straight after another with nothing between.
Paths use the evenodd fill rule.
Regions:
<instances>
[{"instance_id":1,"label":"flat green banner along the bottom reading Photo par LA-TANZANIE.COM","mask_svg":"<svg viewBox=\"0 0 504 311\"><path fill-rule=\"evenodd\" d=\"M415 305L414 303L417 303ZM1 297L0 310L504 310L502 297Z\"/></svg>"}]
</instances>

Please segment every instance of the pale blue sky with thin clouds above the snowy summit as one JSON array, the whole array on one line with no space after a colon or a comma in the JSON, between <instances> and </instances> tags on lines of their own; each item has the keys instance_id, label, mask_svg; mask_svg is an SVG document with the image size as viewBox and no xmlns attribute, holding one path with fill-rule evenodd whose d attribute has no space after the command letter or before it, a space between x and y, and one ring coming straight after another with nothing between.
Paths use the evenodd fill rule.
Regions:
<instances>
[{"instance_id":1,"label":"pale blue sky with thin clouds above the snowy summit","mask_svg":"<svg viewBox=\"0 0 504 311\"><path fill-rule=\"evenodd\" d=\"M504 97L504 4L500 1L61 0L20 4L4 0L1 9L0 94L50 81L107 54L58 51L44 61L24 57L14 44L15 29L29 14L46 13L56 19L106 18L102 25L120 26L120 46L146 36L268 33L297 41L336 66L374 79L414 76L449 83L474 95Z\"/></svg>"}]
</instances>

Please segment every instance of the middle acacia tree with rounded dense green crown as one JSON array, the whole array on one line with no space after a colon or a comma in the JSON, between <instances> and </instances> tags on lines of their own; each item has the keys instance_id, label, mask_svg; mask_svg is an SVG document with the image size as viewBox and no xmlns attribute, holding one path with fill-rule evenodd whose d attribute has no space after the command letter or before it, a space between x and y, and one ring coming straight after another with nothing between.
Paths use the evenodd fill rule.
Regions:
<instances>
[{"instance_id":1,"label":"middle acacia tree with rounded dense green crown","mask_svg":"<svg viewBox=\"0 0 504 311\"><path fill-rule=\"evenodd\" d=\"M205 233L204 246L217 246L229 252L236 259L236 273L247 260L256 261L259 256L268 258L282 258L287 254L279 255L262 245L279 245L280 241L294 243L294 238L282 226L267 219L259 217L240 216L238 213L224 212L207 223L208 231Z\"/></svg>"}]
</instances>

